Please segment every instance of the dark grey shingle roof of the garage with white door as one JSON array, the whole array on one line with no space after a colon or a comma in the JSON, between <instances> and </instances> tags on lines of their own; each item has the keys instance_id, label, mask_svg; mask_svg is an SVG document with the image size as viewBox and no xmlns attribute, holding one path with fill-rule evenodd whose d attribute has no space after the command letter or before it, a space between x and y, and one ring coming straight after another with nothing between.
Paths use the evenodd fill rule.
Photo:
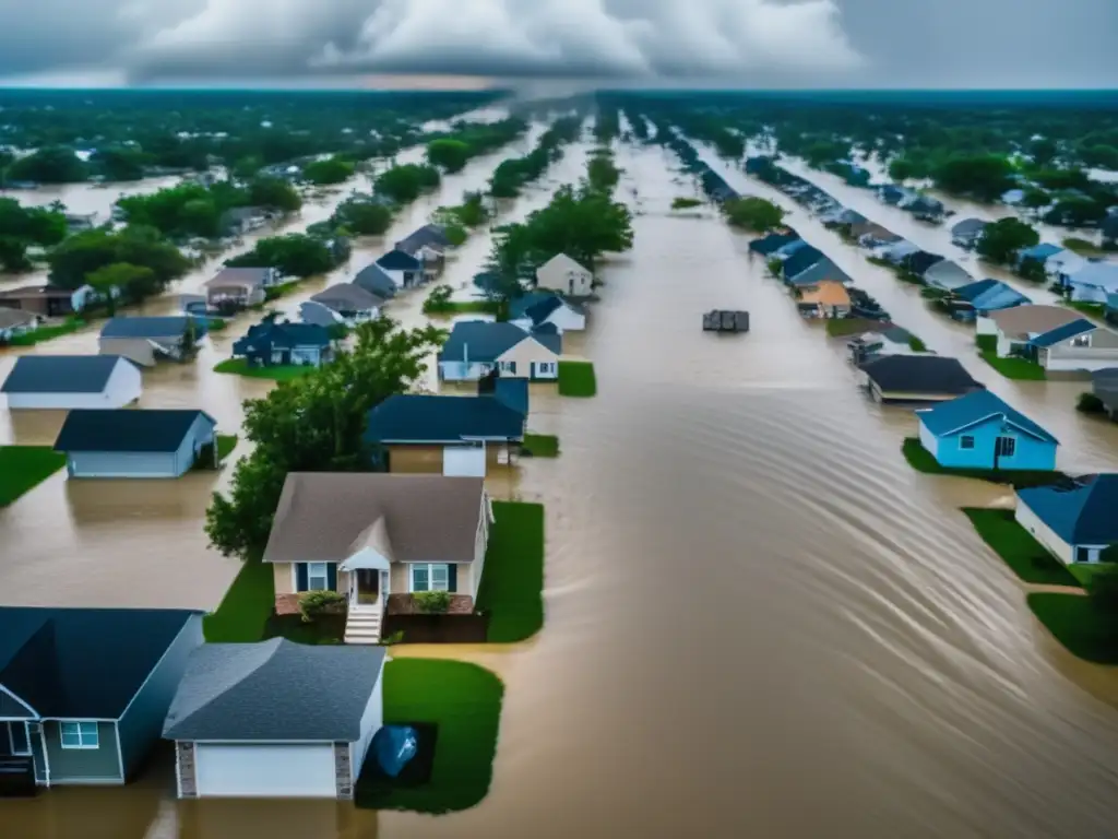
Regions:
<instances>
[{"instance_id":1,"label":"dark grey shingle roof of the garage with white door","mask_svg":"<svg viewBox=\"0 0 1118 839\"><path fill-rule=\"evenodd\" d=\"M383 647L202 644L163 724L178 741L361 738L361 717L380 678Z\"/></svg>"}]
</instances>

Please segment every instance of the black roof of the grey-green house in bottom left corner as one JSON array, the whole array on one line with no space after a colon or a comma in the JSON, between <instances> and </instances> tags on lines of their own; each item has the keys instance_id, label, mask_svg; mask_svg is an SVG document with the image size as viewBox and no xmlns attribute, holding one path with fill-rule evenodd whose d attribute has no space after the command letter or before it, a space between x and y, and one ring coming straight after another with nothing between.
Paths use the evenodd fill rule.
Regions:
<instances>
[{"instance_id":1,"label":"black roof of the grey-green house in bottom left corner","mask_svg":"<svg viewBox=\"0 0 1118 839\"><path fill-rule=\"evenodd\" d=\"M116 719L196 614L0 606L0 685L42 717Z\"/></svg>"}]
</instances>

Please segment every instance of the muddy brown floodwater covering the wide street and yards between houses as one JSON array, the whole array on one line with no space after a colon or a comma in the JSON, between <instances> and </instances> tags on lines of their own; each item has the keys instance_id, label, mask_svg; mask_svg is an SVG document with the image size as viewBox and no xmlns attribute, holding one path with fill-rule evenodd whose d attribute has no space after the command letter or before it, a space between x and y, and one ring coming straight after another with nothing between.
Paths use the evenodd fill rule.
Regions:
<instances>
[{"instance_id":1,"label":"muddy brown floodwater covering the wide street and yards between houses","mask_svg":"<svg viewBox=\"0 0 1118 839\"><path fill-rule=\"evenodd\" d=\"M675 161L625 149L618 162L618 195L637 205L636 245L605 267L578 350L594 359L599 393L533 394L530 425L558 434L562 454L523 463L512 490L547 505L544 629L511 648L394 651L468 659L504 679L489 796L439 818L333 803L182 804L170 800L165 774L153 774L119 790L2 803L0 826L11 829L0 832L1114 836L1115 671L1077 661L1045 635L1022 586L957 509L1005 503L1008 493L910 470L899 445L911 414L859 392L842 341L799 319L748 256L746 237L712 216L669 213L673 197L693 192ZM567 163L558 170L568 177ZM459 186L473 186L475 171ZM792 223L899 322L1048 425L1064 443L1062 466L1118 468L1118 426L1078 416L1074 389L999 379L966 357L963 328L798 210ZM702 333L700 314L716 307L749 309L752 331ZM245 385L217 383L207 369L200 360L193 392L157 374L167 386L145 399L205 397L234 421ZM183 512L158 526L130 503L117 520L87 513L83 522L68 489L48 481L0 515L6 598L101 602L126 587L130 601L174 600L183 585L210 605L228 581L231 568L207 559L189 532L200 526L200 497L180 500ZM149 527L163 531L158 545L142 536ZM51 563L53 574L30 568ZM124 576L129 563L139 578ZM65 588L78 564L107 566L111 584L98 587L87 567L93 588Z\"/></svg>"}]
</instances>

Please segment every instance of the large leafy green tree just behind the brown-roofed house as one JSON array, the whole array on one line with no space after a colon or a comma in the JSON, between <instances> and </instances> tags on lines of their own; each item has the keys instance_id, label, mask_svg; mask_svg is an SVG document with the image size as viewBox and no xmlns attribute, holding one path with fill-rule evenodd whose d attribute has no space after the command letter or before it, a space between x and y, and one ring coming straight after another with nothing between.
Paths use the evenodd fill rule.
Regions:
<instances>
[{"instance_id":1,"label":"large leafy green tree just behind the brown-roofed house","mask_svg":"<svg viewBox=\"0 0 1118 839\"><path fill-rule=\"evenodd\" d=\"M368 413L407 392L445 333L400 330L385 318L358 326L354 338L352 351L245 403L253 452L238 461L228 494L215 493L206 511L206 534L226 556L259 558L288 472L372 470Z\"/></svg>"}]
</instances>

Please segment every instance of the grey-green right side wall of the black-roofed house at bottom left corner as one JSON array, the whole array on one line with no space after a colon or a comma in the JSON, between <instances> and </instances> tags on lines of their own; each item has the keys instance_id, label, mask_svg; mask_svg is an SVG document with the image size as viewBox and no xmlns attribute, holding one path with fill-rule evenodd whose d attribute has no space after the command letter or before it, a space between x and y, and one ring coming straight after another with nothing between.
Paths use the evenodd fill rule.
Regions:
<instances>
[{"instance_id":1,"label":"grey-green right side wall of the black-roofed house at bottom left corner","mask_svg":"<svg viewBox=\"0 0 1118 839\"><path fill-rule=\"evenodd\" d=\"M190 618L148 680L117 720L124 775L131 777L160 739L167 711L187 669L190 653L202 643L202 618Z\"/></svg>"}]
</instances>

